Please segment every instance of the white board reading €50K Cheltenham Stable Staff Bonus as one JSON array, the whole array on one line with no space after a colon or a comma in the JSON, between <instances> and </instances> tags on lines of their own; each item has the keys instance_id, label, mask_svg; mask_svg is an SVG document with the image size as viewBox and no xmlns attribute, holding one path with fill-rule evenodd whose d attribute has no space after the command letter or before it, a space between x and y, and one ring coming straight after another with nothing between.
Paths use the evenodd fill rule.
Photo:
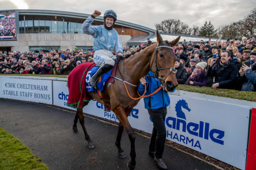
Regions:
<instances>
[{"instance_id":1,"label":"white board reading \u20ac50K Cheltenham Stable Staff Bonus","mask_svg":"<svg viewBox=\"0 0 256 170\"><path fill-rule=\"evenodd\" d=\"M1 77L1 97L52 104L52 80Z\"/></svg>"}]
</instances>

